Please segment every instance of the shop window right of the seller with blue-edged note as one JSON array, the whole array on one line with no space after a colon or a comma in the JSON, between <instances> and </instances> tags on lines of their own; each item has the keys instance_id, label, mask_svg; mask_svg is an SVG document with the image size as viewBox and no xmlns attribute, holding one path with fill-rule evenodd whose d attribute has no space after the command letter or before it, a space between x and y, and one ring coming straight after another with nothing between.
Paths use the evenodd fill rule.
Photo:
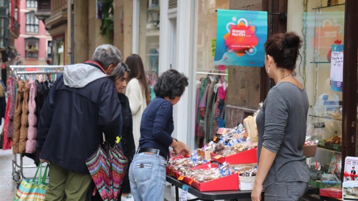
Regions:
<instances>
[{"instance_id":1,"label":"shop window right of the seller with blue-edged note","mask_svg":"<svg viewBox=\"0 0 358 201\"><path fill-rule=\"evenodd\" d=\"M287 32L303 40L296 78L310 104L306 134L320 147L312 162L341 179L345 0L288 1L287 17Z\"/></svg>"}]
</instances>

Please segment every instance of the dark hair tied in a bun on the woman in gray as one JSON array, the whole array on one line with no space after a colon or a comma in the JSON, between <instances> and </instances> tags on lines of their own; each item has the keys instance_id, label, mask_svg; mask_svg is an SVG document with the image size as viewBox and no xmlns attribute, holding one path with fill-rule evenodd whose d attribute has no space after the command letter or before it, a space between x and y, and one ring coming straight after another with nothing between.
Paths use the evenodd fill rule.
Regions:
<instances>
[{"instance_id":1,"label":"dark hair tied in a bun on the woman in gray","mask_svg":"<svg viewBox=\"0 0 358 201\"><path fill-rule=\"evenodd\" d=\"M294 70L302 38L294 32L273 34L265 43L265 52L273 57L277 67Z\"/></svg>"}]
</instances>

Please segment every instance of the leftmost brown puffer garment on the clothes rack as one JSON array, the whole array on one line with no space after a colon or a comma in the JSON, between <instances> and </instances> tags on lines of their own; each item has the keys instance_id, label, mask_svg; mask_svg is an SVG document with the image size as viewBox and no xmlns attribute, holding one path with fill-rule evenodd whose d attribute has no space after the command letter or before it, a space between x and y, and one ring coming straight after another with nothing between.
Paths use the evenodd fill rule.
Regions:
<instances>
[{"instance_id":1,"label":"leftmost brown puffer garment on the clothes rack","mask_svg":"<svg viewBox=\"0 0 358 201\"><path fill-rule=\"evenodd\" d=\"M20 140L20 128L21 128L21 113L22 113L22 101L23 90L25 82L19 80L17 82L17 94L15 99L15 111L13 119L13 134L12 134L12 152L19 153L19 140Z\"/></svg>"}]
</instances>

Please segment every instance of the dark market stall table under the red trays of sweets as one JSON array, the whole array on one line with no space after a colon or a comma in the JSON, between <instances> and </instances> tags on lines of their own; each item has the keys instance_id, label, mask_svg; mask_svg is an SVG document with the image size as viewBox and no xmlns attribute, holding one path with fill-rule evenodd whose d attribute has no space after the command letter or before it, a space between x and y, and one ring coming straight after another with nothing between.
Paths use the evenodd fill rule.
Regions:
<instances>
[{"instance_id":1,"label":"dark market stall table under the red trays of sweets","mask_svg":"<svg viewBox=\"0 0 358 201\"><path fill-rule=\"evenodd\" d=\"M179 201L179 188L182 188L183 185L186 185L177 179L167 175L167 182L171 183L172 186L176 188L176 201ZM188 186L188 185L186 185ZM197 197L190 201L215 201L215 200L240 200L240 199L250 199L251 191L210 191L210 192L200 192L194 189L191 186L188 186L188 193ZM307 194L318 194L319 189L309 188Z\"/></svg>"}]
</instances>

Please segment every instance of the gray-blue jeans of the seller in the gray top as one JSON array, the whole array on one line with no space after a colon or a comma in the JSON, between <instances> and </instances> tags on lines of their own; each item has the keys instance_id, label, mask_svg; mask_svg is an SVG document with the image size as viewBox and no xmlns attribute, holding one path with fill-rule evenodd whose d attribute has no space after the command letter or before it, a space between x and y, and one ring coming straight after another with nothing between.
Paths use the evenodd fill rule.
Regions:
<instances>
[{"instance_id":1,"label":"gray-blue jeans of the seller in the gray top","mask_svg":"<svg viewBox=\"0 0 358 201\"><path fill-rule=\"evenodd\" d=\"M299 201L307 189L305 182L276 182L265 188L265 201Z\"/></svg>"}]
</instances>

